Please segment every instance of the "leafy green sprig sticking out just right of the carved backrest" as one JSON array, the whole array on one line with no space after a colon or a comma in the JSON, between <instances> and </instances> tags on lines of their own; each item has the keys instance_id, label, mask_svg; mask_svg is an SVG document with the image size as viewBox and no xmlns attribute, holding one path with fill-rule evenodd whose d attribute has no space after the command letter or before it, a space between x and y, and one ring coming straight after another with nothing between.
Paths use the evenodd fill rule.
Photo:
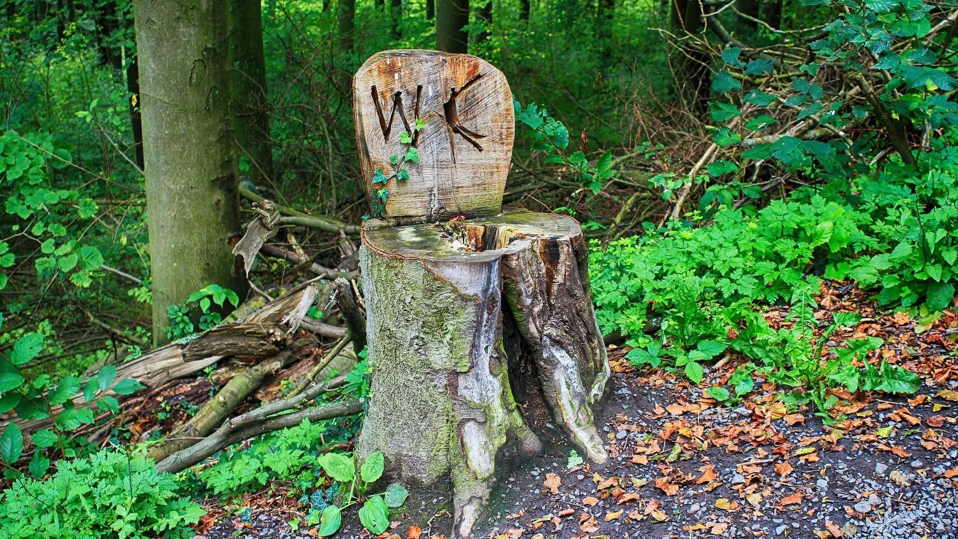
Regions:
<instances>
[{"instance_id":1,"label":"leafy green sprig sticking out just right of the carved backrest","mask_svg":"<svg viewBox=\"0 0 958 539\"><path fill-rule=\"evenodd\" d=\"M513 100L513 106L515 120L533 129L535 138L532 151L545 153L546 163L565 165L579 179L582 187L589 189L593 194L602 191L604 182L615 176L617 171L612 168L611 151L604 152L595 166L589 165L583 152L577 151L566 155L569 146L569 129L550 116L546 109L539 108L535 103L523 108L518 101Z\"/></svg>"}]
</instances>

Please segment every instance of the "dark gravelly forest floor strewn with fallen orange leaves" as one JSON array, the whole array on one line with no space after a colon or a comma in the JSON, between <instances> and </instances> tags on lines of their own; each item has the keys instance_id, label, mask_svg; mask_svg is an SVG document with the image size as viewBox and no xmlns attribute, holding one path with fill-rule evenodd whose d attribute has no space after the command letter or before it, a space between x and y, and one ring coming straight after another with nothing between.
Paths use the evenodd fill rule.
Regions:
<instances>
[{"instance_id":1,"label":"dark gravelly forest floor strewn with fallen orange leaves","mask_svg":"<svg viewBox=\"0 0 958 539\"><path fill-rule=\"evenodd\" d=\"M827 425L813 410L788 413L776 398L780 388L764 381L741 403L719 406L688 381L634 371L625 350L613 348L609 393L596 410L609 461L572 465L558 432L532 425L551 449L500 478L474 537L958 537L958 366L951 357L958 316L946 312L923 327L877 313L851 287L823 287L819 303L820 319L865 316L830 346L880 337L878 353L919 373L922 390L844 395L847 403L834 410L844 417ZM773 310L766 318L787 325L786 315ZM724 382L737 366L730 359L708 380ZM403 518L382 537L445 536L446 494L411 490ZM304 513L276 490L246 497L242 505L252 511L241 519L209 504L207 539L315 536L315 528L287 524ZM337 536L371 536L352 520Z\"/></svg>"}]
</instances>

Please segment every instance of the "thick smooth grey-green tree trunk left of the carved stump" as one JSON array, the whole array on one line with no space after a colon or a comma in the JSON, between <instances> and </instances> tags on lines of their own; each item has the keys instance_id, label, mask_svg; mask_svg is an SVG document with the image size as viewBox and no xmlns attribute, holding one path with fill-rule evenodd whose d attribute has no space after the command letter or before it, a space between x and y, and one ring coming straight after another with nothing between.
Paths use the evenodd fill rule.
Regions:
<instances>
[{"instance_id":1,"label":"thick smooth grey-green tree trunk left of the carved stump","mask_svg":"<svg viewBox=\"0 0 958 539\"><path fill-rule=\"evenodd\" d=\"M153 340L166 340L167 307L216 283L239 294L237 177L229 111L226 0L184 15L173 0L135 0Z\"/></svg>"}]
</instances>

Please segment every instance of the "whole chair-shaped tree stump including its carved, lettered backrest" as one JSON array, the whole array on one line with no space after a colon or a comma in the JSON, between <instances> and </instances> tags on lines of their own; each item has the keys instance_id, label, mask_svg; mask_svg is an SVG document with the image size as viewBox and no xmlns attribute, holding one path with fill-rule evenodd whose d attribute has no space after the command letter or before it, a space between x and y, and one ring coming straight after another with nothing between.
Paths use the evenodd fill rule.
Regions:
<instances>
[{"instance_id":1,"label":"whole chair-shaped tree stump including its carved, lettered backrest","mask_svg":"<svg viewBox=\"0 0 958 539\"><path fill-rule=\"evenodd\" d=\"M405 103L409 94L420 98ZM389 191L381 219L362 230L372 389L357 452L382 451L402 480L449 478L453 536L466 537L488 500L500 450L541 449L516 389L537 385L542 406L583 454L606 459L592 405L608 363L587 246L568 217L501 212L512 96L489 63L433 51L379 53L360 68L354 95L367 193ZM386 96L399 109L383 114L381 103L362 96ZM410 129L421 119L421 129L400 137L406 126L397 128L394 114ZM459 138L486 144L451 142ZM390 176L398 161L391 155L410 147L420 161L408 179L395 166Z\"/></svg>"}]
</instances>

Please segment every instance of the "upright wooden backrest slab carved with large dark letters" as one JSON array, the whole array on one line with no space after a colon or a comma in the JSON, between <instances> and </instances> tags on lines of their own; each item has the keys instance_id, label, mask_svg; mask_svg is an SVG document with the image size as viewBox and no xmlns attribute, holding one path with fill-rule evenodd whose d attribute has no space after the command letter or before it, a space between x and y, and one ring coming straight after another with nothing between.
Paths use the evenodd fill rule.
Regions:
<instances>
[{"instance_id":1,"label":"upright wooden backrest slab carved with large dark letters","mask_svg":"<svg viewBox=\"0 0 958 539\"><path fill-rule=\"evenodd\" d=\"M513 155L513 94L488 61L376 53L353 79L353 107L373 216L414 223L500 212Z\"/></svg>"}]
</instances>

